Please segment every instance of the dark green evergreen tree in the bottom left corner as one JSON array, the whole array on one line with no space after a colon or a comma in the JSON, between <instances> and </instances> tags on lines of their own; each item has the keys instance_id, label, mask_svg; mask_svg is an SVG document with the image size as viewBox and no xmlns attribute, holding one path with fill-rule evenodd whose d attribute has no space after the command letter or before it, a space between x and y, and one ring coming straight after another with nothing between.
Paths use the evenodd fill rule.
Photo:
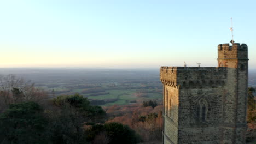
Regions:
<instances>
[{"instance_id":1,"label":"dark green evergreen tree in the bottom left corner","mask_svg":"<svg viewBox=\"0 0 256 144\"><path fill-rule=\"evenodd\" d=\"M0 115L1 143L48 143L45 128L48 122L43 110L34 102L11 104Z\"/></svg>"}]
</instances>

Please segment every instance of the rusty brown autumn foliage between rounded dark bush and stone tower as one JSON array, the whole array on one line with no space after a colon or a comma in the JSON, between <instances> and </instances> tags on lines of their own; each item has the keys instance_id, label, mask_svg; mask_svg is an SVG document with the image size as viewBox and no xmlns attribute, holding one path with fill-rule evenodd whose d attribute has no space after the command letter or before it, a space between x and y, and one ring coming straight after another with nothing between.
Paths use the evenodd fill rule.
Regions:
<instances>
[{"instance_id":1,"label":"rusty brown autumn foliage between rounded dark bush and stone tower","mask_svg":"<svg viewBox=\"0 0 256 144\"><path fill-rule=\"evenodd\" d=\"M110 117L107 122L129 125L141 135L143 141L162 140L162 105L158 105L154 109L150 106L144 107L142 103L113 105L105 107L105 110ZM141 117L145 117L145 121L142 121Z\"/></svg>"}]
</instances>

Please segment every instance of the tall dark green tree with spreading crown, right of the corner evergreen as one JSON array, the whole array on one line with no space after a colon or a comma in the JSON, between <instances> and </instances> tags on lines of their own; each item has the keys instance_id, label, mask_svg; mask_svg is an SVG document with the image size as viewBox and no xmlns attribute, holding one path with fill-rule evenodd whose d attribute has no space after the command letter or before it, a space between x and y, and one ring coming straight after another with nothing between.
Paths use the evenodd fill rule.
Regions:
<instances>
[{"instance_id":1,"label":"tall dark green tree with spreading crown, right of the corner evergreen","mask_svg":"<svg viewBox=\"0 0 256 144\"><path fill-rule=\"evenodd\" d=\"M53 143L85 143L84 125L104 122L106 112L100 106L91 105L87 98L75 94L53 99L60 108L51 114L50 131Z\"/></svg>"}]
</instances>

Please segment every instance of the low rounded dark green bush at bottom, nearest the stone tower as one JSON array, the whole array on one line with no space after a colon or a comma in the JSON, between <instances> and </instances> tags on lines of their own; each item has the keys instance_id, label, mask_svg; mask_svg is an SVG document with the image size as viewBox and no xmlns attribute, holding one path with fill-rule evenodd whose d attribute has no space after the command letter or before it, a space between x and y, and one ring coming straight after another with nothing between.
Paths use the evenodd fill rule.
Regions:
<instances>
[{"instance_id":1,"label":"low rounded dark green bush at bottom, nearest the stone tower","mask_svg":"<svg viewBox=\"0 0 256 144\"><path fill-rule=\"evenodd\" d=\"M103 131L106 132L106 135L109 137L110 144L133 144L141 141L141 138L134 130L121 123L106 123L104 125L92 126L92 128L87 131L88 140L94 140L95 136Z\"/></svg>"}]
</instances>

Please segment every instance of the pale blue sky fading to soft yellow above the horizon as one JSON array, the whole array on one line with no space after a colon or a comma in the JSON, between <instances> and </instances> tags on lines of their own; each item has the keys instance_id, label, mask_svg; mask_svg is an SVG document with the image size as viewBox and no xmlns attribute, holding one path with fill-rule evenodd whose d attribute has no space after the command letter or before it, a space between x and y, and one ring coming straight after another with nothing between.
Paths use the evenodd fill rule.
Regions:
<instances>
[{"instance_id":1,"label":"pale blue sky fading to soft yellow above the horizon","mask_svg":"<svg viewBox=\"0 0 256 144\"><path fill-rule=\"evenodd\" d=\"M256 68L253 0L0 0L0 67L217 66L230 17Z\"/></svg>"}]
</instances>

